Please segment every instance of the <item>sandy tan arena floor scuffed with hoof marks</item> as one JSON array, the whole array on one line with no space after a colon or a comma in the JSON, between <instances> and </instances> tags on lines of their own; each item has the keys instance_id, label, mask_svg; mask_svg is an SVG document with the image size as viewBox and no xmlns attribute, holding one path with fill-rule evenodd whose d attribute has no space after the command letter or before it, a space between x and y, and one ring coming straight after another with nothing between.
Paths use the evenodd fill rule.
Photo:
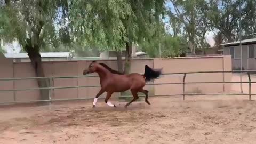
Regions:
<instances>
[{"instance_id":1,"label":"sandy tan arena floor scuffed with hoof marks","mask_svg":"<svg viewBox=\"0 0 256 144\"><path fill-rule=\"evenodd\" d=\"M149 98L150 106L128 109L118 102L0 108L0 143L255 143L256 101L186 98Z\"/></svg>"}]
</instances>

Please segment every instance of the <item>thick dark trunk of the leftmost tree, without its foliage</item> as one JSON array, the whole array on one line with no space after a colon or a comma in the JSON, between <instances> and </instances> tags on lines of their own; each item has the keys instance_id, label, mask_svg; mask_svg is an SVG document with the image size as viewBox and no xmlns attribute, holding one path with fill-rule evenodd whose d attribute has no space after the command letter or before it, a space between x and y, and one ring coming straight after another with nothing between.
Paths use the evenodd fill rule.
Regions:
<instances>
[{"instance_id":1,"label":"thick dark trunk of the leftmost tree, without its foliage","mask_svg":"<svg viewBox=\"0 0 256 144\"><path fill-rule=\"evenodd\" d=\"M29 59L31 60L31 65L35 70L36 77L44 77L44 70L42 67L42 60L39 51L36 51L35 47L26 47ZM37 79L38 87L48 87L48 79ZM49 100L49 90L40 90L41 100Z\"/></svg>"}]
</instances>

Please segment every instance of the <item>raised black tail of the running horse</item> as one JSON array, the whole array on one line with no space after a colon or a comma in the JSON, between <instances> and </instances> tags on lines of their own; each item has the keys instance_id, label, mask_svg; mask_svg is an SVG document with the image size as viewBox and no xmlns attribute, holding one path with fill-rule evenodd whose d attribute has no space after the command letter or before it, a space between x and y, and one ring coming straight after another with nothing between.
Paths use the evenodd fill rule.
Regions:
<instances>
[{"instance_id":1,"label":"raised black tail of the running horse","mask_svg":"<svg viewBox=\"0 0 256 144\"><path fill-rule=\"evenodd\" d=\"M148 65L145 65L144 77L146 81L151 81L155 78L158 78L162 74L162 69L153 69Z\"/></svg>"}]
</instances>

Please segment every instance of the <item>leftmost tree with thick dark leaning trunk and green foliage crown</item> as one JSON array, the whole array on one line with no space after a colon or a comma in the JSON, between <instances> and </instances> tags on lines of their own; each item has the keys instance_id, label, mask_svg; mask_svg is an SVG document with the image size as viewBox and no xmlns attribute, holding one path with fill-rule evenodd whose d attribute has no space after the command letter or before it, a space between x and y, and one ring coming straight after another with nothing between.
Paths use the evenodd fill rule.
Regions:
<instances>
[{"instance_id":1,"label":"leftmost tree with thick dark leaning trunk and green foliage crown","mask_svg":"<svg viewBox=\"0 0 256 144\"><path fill-rule=\"evenodd\" d=\"M47 46L57 47L58 26L63 17L58 15L67 1L5 0L0 9L0 38L18 39L28 53L36 77L44 77L40 51ZM62 14L65 16L65 14ZM47 79L37 79L39 87L47 87ZM49 91L41 90L41 99L49 99Z\"/></svg>"}]
</instances>

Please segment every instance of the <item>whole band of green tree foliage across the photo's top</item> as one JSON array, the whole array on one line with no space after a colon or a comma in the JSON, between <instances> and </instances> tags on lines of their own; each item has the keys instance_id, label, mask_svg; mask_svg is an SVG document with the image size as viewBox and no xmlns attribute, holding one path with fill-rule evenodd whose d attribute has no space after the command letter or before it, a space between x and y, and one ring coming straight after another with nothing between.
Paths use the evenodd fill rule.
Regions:
<instances>
[{"instance_id":1,"label":"whole band of green tree foliage across the photo's top","mask_svg":"<svg viewBox=\"0 0 256 144\"><path fill-rule=\"evenodd\" d=\"M161 23L163 0L6 2L0 6L0 38L18 40L27 52L33 47L38 52L75 50L77 55L91 55L138 43L150 57L158 57L160 43L162 55L173 57L187 40L191 51L208 47L205 35L213 28L223 41L235 41L239 34L239 0L170 0L173 9L167 13L173 36L165 34ZM243 38L251 38L256 32L256 2L241 2Z\"/></svg>"}]
</instances>

